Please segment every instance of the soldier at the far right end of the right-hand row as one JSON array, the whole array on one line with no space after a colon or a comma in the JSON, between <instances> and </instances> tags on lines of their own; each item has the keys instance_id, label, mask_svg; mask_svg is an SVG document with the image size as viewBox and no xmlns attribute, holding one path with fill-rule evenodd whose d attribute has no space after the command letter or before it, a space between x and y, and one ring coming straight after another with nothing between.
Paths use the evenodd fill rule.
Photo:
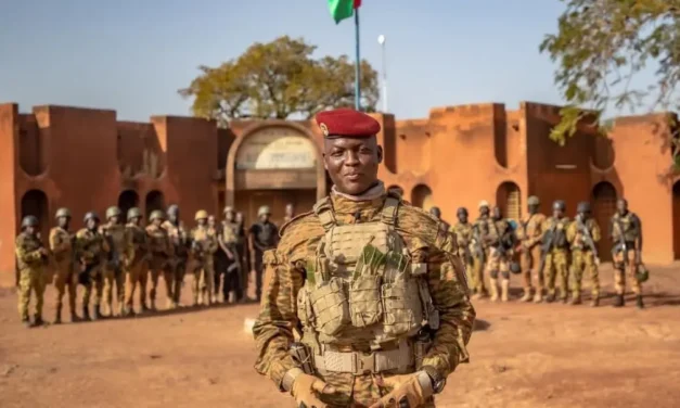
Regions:
<instances>
[{"instance_id":1,"label":"soldier at the far right end of the right-hand row","mask_svg":"<svg viewBox=\"0 0 680 408\"><path fill-rule=\"evenodd\" d=\"M638 308L643 308L642 282L646 281L647 272L642 267L642 224L634 213L628 211L628 202L619 199L616 202L616 214L612 217L610 235L614 242L614 289L616 299L614 307L625 305L626 272L632 280L632 293L636 294ZM641 269L641 270L640 270Z\"/></svg>"}]
</instances>

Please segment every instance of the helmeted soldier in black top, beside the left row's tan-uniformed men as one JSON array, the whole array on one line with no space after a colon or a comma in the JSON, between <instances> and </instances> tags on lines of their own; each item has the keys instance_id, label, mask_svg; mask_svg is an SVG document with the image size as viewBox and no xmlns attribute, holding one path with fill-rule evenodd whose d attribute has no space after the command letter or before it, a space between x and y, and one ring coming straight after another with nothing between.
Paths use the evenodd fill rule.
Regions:
<instances>
[{"instance_id":1,"label":"helmeted soldier in black top, beside the left row's tan-uniformed men","mask_svg":"<svg viewBox=\"0 0 680 408\"><path fill-rule=\"evenodd\" d=\"M265 251L277 246L279 242L279 227L269 220L271 212L269 206L262 205L257 211L257 222L251 226L248 231L248 246L251 253L251 267L255 276L255 296L257 302L262 294L262 254Z\"/></svg>"}]
</instances>

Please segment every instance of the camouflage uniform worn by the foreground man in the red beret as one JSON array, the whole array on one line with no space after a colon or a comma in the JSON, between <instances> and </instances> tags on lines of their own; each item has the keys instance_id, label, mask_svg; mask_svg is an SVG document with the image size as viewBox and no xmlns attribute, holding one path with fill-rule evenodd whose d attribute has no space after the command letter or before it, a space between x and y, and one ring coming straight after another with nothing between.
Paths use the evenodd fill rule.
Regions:
<instances>
[{"instance_id":1,"label":"camouflage uniform worn by the foreground man in the red beret","mask_svg":"<svg viewBox=\"0 0 680 408\"><path fill-rule=\"evenodd\" d=\"M407 346L401 348L402 344L406 344L402 343L403 337L380 343L379 340L375 340L377 332L371 329L367 331L367 328L373 328L377 331L384 330L384 333L387 333L397 330L397 327L406 321L402 318L406 318L407 315L411 316L411 313L425 313L426 310L425 314L428 314L428 319L426 320L433 321L434 310L438 310L439 319L437 321L441 321L441 324L439 324L438 330L433 331L432 337L429 337L429 332L426 329L419 332L425 333L427 341L433 342L432 346L424 348L421 355L421 357L424 357L422 360L418 356L413 356L412 365L409 367L406 367L406 361L401 361L402 366L398 370L373 370L376 371L374 373L367 371L338 372L328 369L321 370L319 368L320 362L317 360L319 357L315 357L315 366L317 367L315 374L337 391L333 395L320 396L330 407L364 407L375 403L377 398L392 391L381 384L383 379L392 378L395 372L413 373L419 366L428 366L434 367L441 375L448 375L459 364L469 360L465 345L470 340L475 311L470 303L462 265L456 255L454 235L442 232L433 217L419 208L400 202L398 195L390 195L390 197L393 200L390 202L385 200L385 195L372 201L352 201L342 195L332 194L328 201L324 200L315 206L315 213L304 214L285 226L282 230L282 239L279 246L265 253L264 263L266 265L267 285L262 297L261 311L253 329L259 352L255 367L258 372L270 378L277 386L282 387L286 372L298 365L288 354L288 347L294 341L294 328L303 329L303 342L311 346L315 354L321 353L322 347L324 356L330 356L326 353L332 350L335 355L351 354L355 356L363 352L364 358L374 356L377 361L375 355L395 353L394 348L392 348L392 352L387 352L390 349L389 347L407 350L407 354L409 354L409 348ZM325 262L348 259L349 253L345 254L343 252L337 254L333 258L335 260L331 260L328 257L320 258L319 254L322 252L325 254L325 251L328 251L319 246L320 242L322 242L324 237L337 237L337 240L342 242L331 238L332 241L329 242L329 245L332 245L332 247L336 245L341 245L341 247L343 247L342 245L356 246L357 241L361 241L359 245L363 245L363 242L369 242L370 237L361 235L362 228L364 228L362 225L375 226L380 222L385 224L386 227L383 228L394 228L390 231L394 231L400 238L399 241L403 241L405 253L408 252L410 254L410 269L406 263L398 264L405 267L406 270L410 270L410 272L405 270L399 273L419 277L403 279L422 282L422 293L427 292L432 295L432 304L423 306L422 309L418 306L414 309L420 309L420 311L413 311L414 309L402 309L397 304L393 304L405 302L403 297L396 293L395 297L386 295L388 297L385 297L384 302L389 306L385 307L383 320L380 314L356 313L358 310L357 307L362 306L360 302L361 288L351 285L351 289L347 289L345 285L349 285L349 283L342 284L347 290L347 296L350 298L349 304L354 305L348 307L354 311L348 311L349 317L346 317L346 320L341 320L347 326L344 331L336 334L335 341L323 343L328 341L328 337L324 337L326 334L317 330L326 331L328 329L325 329L325 326L320 326L322 324L319 321L320 318L317 319L316 323L311 323L309 314L317 316L322 311L328 314L329 310L331 310L331 315L336 313L343 314L343 305L347 305L347 301L334 304L329 297L331 302L326 306L330 308L326 309L322 302L325 297L318 297L322 296L319 294L317 295L319 302L313 303L312 301L310 306L308 299L316 297L309 294L310 292L303 292L303 288L305 288L305 291L308 291L308 285L313 285L311 280L319 282L324 276L324 281L325 279L331 279L336 283L348 279L349 277L344 275L345 272L342 270L330 271L326 265L333 264L325 264ZM350 225L351 227L356 225L356 227L346 228L342 233L339 232L338 229L350 227ZM331 228L335 228L336 232L326 232L332 231ZM386 242L385 237L375 238L373 245L382 246ZM389 252L389 254L399 258L398 252ZM387 265L395 267L397 265L396 260L394 263ZM382 279L389 281L387 276L394 276L387 275L387 267L385 268ZM331 275L326 276L324 270ZM359 278L362 280L369 277L363 275L363 272ZM358 279L356 273L352 276L352 280ZM372 290L377 291L376 288L368 284L374 281L375 279L368 279L364 282L367 283L367 286L363 288L367 290L365 294ZM386 283L382 288L387 289L390 284L395 283ZM328 289L333 288L333 285L321 288ZM394 288L390 286L389 289ZM317 289L316 291L318 293L322 289ZM335 294L343 292L330 292L329 296L333 297ZM422 299L423 297L421 296L424 296L422 293L421 295L415 294L415 298ZM375 306L380 309L380 303L371 305L364 304L362 307L371 309ZM402 314L403 316L401 316ZM415 319L411 320L411 323L414 322ZM375 326L370 326L371 323ZM420 320L418 324L420 324ZM410 337L409 341L415 341L415 339ZM319 345L319 342L324 345ZM397 346L395 343L399 345ZM333 364L332 358L330 360L325 359L325 365ZM325 367L328 368L329 366ZM434 406L433 398L429 398L424 406Z\"/></svg>"}]
</instances>

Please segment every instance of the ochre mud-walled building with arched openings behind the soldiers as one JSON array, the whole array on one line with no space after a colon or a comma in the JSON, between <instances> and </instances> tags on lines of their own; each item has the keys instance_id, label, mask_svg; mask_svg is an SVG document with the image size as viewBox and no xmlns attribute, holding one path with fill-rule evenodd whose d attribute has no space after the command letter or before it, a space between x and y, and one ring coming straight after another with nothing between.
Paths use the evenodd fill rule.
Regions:
<instances>
[{"instance_id":1,"label":"ochre mud-walled building with arched openings behind the soldiers","mask_svg":"<svg viewBox=\"0 0 680 408\"><path fill-rule=\"evenodd\" d=\"M590 200L606 226L624 196L643 221L644 260L680 257L680 183L670 171L675 132L666 115L621 117L608 138L585 128L565 146L548 138L559 107L538 103L437 107L414 120L373 116L383 127L380 177L414 205L439 206L451 222L460 206L476 217L483 199L517 218L536 194L543 212L565 200L570 216ZM227 204L249 224L268 204L280 224L286 203L305 212L330 189L321 141L313 122L218 129L193 117L131 123L107 110L48 105L21 114L16 104L0 104L0 284L14 284L22 217L38 216L47 237L61 206L72 209L74 230L86 212L103 216L114 204L149 214L177 203L189 225L197 209L220 215ZM605 259L610 244L601 245Z\"/></svg>"}]
</instances>

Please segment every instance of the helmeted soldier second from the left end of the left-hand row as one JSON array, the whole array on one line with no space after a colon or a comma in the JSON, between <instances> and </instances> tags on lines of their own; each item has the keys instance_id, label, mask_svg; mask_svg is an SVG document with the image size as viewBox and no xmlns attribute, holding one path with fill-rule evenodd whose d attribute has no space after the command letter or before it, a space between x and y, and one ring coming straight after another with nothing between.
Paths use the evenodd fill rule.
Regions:
<instances>
[{"instance_id":1,"label":"helmeted soldier second from the left end of the left-hand row","mask_svg":"<svg viewBox=\"0 0 680 408\"><path fill-rule=\"evenodd\" d=\"M68 311L70 313L70 321L78 321L76 314L76 290L78 286L78 277L75 271L74 247L68 225L70 224L70 212L68 208L59 208L54 215L56 227L50 230L50 252L54 258L56 273L54 275L54 289L56 289L56 315L54 316L54 324L62 322L62 301L64 292L68 290Z\"/></svg>"}]
</instances>

